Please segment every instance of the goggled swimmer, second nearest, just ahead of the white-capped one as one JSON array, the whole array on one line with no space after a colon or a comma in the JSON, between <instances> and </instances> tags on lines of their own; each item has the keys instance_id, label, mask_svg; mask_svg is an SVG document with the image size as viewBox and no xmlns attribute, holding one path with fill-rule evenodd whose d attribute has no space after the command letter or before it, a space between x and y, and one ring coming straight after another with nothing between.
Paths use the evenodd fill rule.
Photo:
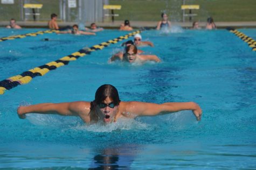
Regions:
<instances>
[{"instance_id":1,"label":"goggled swimmer, second nearest, just ahead of the white-capped one","mask_svg":"<svg viewBox=\"0 0 256 170\"><path fill-rule=\"evenodd\" d=\"M143 63L146 61L160 62L161 60L156 55L139 55L137 47L135 45L129 45L126 47L126 52L123 55L113 55L110 58L111 61L121 60L129 63Z\"/></svg>"}]
</instances>

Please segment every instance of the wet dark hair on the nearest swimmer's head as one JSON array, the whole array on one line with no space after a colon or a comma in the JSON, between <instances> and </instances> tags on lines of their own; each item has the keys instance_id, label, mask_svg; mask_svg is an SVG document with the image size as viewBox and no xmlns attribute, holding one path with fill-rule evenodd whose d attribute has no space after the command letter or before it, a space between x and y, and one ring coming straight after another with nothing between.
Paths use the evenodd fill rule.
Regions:
<instances>
[{"instance_id":1,"label":"wet dark hair on the nearest swimmer's head","mask_svg":"<svg viewBox=\"0 0 256 170\"><path fill-rule=\"evenodd\" d=\"M103 84L96 90L94 102L96 104L100 104L107 97L111 98L115 105L119 105L119 103L121 102L119 99L119 94L117 89L111 84Z\"/></svg>"}]
</instances>

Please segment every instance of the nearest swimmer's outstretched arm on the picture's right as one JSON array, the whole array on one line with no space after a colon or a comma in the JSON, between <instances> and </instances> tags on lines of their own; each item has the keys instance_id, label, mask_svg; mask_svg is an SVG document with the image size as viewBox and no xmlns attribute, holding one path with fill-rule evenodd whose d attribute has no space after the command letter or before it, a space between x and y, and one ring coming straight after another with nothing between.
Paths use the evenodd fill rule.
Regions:
<instances>
[{"instance_id":1,"label":"nearest swimmer's outstretched arm on the picture's right","mask_svg":"<svg viewBox=\"0 0 256 170\"><path fill-rule=\"evenodd\" d=\"M169 114L181 110L192 110L197 121L200 121L202 110L195 102L170 102L163 104L127 102L126 112L133 113L136 116L155 116L160 114Z\"/></svg>"}]
</instances>

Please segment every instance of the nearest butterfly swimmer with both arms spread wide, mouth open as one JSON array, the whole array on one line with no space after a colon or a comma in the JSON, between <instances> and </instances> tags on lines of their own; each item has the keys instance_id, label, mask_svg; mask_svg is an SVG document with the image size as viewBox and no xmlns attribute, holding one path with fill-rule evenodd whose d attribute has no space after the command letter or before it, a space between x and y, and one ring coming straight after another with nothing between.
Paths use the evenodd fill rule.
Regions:
<instances>
[{"instance_id":1,"label":"nearest butterfly swimmer with both arms spread wide, mouth open","mask_svg":"<svg viewBox=\"0 0 256 170\"><path fill-rule=\"evenodd\" d=\"M78 101L66 103L41 103L20 106L17 109L19 118L26 114L58 114L61 116L79 116L85 123L112 123L121 118L137 116L156 116L170 114L181 110L192 110L197 121L200 121L202 110L194 102L168 102L162 104L146 102L120 101L117 89L110 84L103 84L95 93L92 102Z\"/></svg>"}]
</instances>

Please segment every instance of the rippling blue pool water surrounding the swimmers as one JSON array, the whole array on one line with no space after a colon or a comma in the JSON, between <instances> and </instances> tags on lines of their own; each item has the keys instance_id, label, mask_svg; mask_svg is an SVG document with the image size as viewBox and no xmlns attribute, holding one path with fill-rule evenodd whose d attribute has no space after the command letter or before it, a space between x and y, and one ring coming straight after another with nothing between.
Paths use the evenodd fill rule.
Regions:
<instances>
[{"instance_id":1,"label":"rippling blue pool water surrounding the swimmers","mask_svg":"<svg viewBox=\"0 0 256 170\"><path fill-rule=\"evenodd\" d=\"M0 37L39 31L0 29ZM256 39L255 29L239 30ZM43 34L0 42L0 80L126 34ZM226 30L142 32L161 63L108 63L119 42L35 77L0 96L0 168L255 169L256 53ZM49 38L50 41L42 39ZM122 101L195 101L203 109L86 125L77 117L30 114L20 104L92 101L102 84Z\"/></svg>"}]
</instances>

